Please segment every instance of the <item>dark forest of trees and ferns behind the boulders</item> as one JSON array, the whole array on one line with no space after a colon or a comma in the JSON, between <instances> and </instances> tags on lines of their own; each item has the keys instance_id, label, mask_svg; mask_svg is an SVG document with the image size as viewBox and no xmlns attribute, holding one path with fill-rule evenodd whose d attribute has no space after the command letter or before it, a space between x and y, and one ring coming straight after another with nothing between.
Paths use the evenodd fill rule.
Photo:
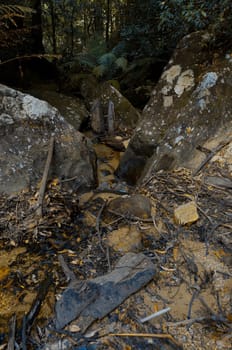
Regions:
<instances>
[{"instance_id":1,"label":"dark forest of trees and ferns behind the boulders","mask_svg":"<svg viewBox=\"0 0 232 350\"><path fill-rule=\"evenodd\" d=\"M99 77L114 75L135 59L167 60L184 35L205 29L212 47L228 49L231 0L3 0L1 61L60 54Z\"/></svg>"}]
</instances>

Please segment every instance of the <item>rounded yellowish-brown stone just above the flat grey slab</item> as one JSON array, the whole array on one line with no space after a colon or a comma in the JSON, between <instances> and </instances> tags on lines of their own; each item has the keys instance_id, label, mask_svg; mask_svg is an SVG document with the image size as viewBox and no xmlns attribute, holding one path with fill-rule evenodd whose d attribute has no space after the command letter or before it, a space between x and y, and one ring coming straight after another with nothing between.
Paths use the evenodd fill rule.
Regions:
<instances>
[{"instance_id":1,"label":"rounded yellowish-brown stone just above the flat grey slab","mask_svg":"<svg viewBox=\"0 0 232 350\"><path fill-rule=\"evenodd\" d=\"M125 226L107 236L108 245L121 253L136 252L142 247L141 233L135 226Z\"/></svg>"}]
</instances>

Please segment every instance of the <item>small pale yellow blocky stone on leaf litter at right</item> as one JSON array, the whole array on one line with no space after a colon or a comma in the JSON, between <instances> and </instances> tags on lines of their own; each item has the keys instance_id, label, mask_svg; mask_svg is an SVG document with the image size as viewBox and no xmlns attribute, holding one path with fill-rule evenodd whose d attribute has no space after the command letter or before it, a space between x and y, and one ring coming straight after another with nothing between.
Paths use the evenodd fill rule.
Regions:
<instances>
[{"instance_id":1,"label":"small pale yellow blocky stone on leaf litter at right","mask_svg":"<svg viewBox=\"0 0 232 350\"><path fill-rule=\"evenodd\" d=\"M182 204L174 210L174 221L180 225L192 224L199 219L195 202Z\"/></svg>"}]
</instances>

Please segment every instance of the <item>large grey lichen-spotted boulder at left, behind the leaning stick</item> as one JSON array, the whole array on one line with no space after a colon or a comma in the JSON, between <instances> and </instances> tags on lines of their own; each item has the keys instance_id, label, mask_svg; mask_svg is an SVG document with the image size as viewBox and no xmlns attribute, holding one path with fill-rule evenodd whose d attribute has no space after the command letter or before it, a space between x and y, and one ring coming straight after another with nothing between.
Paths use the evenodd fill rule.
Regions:
<instances>
[{"instance_id":1,"label":"large grey lichen-spotted boulder at left, behind the leaning stick","mask_svg":"<svg viewBox=\"0 0 232 350\"><path fill-rule=\"evenodd\" d=\"M0 85L0 192L12 193L42 177L50 137L51 175L72 189L95 184L95 153L81 133L47 102Z\"/></svg>"}]
</instances>

